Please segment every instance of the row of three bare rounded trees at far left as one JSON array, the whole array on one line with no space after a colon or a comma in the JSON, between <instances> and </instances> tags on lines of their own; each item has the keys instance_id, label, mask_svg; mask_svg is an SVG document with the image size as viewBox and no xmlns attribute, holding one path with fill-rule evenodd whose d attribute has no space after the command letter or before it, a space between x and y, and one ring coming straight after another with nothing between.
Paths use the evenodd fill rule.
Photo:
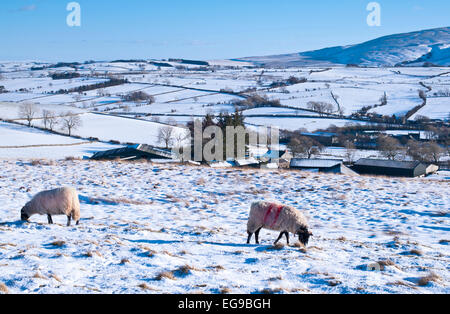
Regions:
<instances>
[{"instance_id":1,"label":"row of three bare rounded trees at far left","mask_svg":"<svg viewBox=\"0 0 450 314\"><path fill-rule=\"evenodd\" d=\"M54 111L42 110L41 117L38 117L38 109L32 103L24 103L19 107L19 117L27 121L29 127L35 119L41 119L44 129L54 132L57 126L62 131L66 131L69 136L72 132L82 126L79 115L68 111L63 115L57 115Z\"/></svg>"}]
</instances>

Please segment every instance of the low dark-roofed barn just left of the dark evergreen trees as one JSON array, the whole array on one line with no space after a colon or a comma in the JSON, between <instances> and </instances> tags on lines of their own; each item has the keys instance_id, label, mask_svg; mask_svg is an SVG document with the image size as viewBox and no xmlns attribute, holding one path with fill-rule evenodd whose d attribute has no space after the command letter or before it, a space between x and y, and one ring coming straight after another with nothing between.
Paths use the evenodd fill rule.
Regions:
<instances>
[{"instance_id":1,"label":"low dark-roofed barn just left of the dark evergreen trees","mask_svg":"<svg viewBox=\"0 0 450 314\"><path fill-rule=\"evenodd\" d=\"M133 145L95 153L93 160L173 159L171 152L150 145Z\"/></svg>"}]
</instances>

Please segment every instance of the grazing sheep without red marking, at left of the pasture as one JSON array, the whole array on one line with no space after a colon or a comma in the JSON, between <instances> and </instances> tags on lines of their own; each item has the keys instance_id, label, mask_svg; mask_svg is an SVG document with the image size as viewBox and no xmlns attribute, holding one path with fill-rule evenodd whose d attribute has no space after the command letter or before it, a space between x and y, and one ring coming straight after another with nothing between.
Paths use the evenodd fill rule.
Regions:
<instances>
[{"instance_id":1,"label":"grazing sheep without red marking, at left of the pasture","mask_svg":"<svg viewBox=\"0 0 450 314\"><path fill-rule=\"evenodd\" d=\"M60 188L38 193L21 210L21 219L28 221L33 215L47 215L48 223L53 224L52 215L66 215L67 226L71 220L80 223L80 201L78 193L72 188Z\"/></svg>"}]
</instances>

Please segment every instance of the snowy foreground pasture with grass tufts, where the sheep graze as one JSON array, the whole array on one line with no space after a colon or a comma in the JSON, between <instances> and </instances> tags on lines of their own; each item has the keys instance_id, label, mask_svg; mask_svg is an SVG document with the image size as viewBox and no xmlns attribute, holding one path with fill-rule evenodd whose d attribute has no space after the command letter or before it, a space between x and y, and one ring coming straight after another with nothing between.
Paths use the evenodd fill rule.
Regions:
<instances>
[{"instance_id":1,"label":"snowy foreground pasture with grass tufts, where the sheep graze","mask_svg":"<svg viewBox=\"0 0 450 314\"><path fill-rule=\"evenodd\" d=\"M450 292L448 182L20 160L0 161L0 177L3 291ZM79 227L18 221L30 197L60 185L81 193ZM268 231L245 244L259 199L302 210L309 246L272 247Z\"/></svg>"}]
</instances>

